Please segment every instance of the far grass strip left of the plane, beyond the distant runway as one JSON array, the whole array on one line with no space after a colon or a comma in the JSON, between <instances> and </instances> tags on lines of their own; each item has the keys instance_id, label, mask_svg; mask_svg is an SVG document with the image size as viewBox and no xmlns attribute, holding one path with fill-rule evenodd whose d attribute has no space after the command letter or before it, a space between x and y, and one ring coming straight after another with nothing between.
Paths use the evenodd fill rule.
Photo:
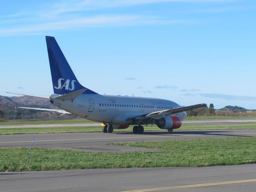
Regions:
<instances>
[{"instance_id":1,"label":"far grass strip left of the plane, beyond the distant runway","mask_svg":"<svg viewBox=\"0 0 256 192\"><path fill-rule=\"evenodd\" d=\"M49 121L22 121L22 122L0 122L0 125L42 125L42 124L72 124L72 123L95 123L84 118L69 120L49 120Z\"/></svg>"}]
</instances>

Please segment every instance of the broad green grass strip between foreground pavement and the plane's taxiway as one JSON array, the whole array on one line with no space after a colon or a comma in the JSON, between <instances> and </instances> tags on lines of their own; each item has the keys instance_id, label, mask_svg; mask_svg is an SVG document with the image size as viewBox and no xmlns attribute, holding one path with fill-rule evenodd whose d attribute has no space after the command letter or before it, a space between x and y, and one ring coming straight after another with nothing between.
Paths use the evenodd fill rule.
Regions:
<instances>
[{"instance_id":1,"label":"broad green grass strip between foreground pavement and the plane's taxiway","mask_svg":"<svg viewBox=\"0 0 256 192\"><path fill-rule=\"evenodd\" d=\"M115 143L158 148L150 152L80 152L32 148L0 149L0 172L85 168L221 166L256 162L256 137Z\"/></svg>"}]
</instances>

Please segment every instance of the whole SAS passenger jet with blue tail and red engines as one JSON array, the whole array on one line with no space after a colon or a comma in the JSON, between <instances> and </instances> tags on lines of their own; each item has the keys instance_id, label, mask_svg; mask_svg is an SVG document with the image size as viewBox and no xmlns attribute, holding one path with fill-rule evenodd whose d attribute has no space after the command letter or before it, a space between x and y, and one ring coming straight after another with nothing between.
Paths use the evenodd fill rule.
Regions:
<instances>
[{"instance_id":1,"label":"whole SAS passenger jet with blue tail and red engines","mask_svg":"<svg viewBox=\"0 0 256 192\"><path fill-rule=\"evenodd\" d=\"M186 110L207 106L203 103L180 106L173 101L158 98L98 94L78 82L54 37L46 36L46 45L54 94L50 94L50 97L20 95L47 98L60 109L20 108L74 114L101 122L104 133L112 133L113 129L125 129L130 125L134 125L134 133L143 133L142 125L149 124L156 124L160 129L172 132L173 129L180 128L182 120L187 116Z\"/></svg>"}]
</instances>

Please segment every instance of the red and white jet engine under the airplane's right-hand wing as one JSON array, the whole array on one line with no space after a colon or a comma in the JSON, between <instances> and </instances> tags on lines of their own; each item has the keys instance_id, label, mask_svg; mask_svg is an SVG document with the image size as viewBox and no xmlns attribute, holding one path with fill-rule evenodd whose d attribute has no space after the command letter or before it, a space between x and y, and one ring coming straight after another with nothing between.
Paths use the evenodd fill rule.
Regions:
<instances>
[{"instance_id":1,"label":"red and white jet engine under the airplane's right-hand wing","mask_svg":"<svg viewBox=\"0 0 256 192\"><path fill-rule=\"evenodd\" d=\"M162 119L156 121L156 125L160 129L178 129L181 126L181 120L175 115L164 116Z\"/></svg>"}]
</instances>

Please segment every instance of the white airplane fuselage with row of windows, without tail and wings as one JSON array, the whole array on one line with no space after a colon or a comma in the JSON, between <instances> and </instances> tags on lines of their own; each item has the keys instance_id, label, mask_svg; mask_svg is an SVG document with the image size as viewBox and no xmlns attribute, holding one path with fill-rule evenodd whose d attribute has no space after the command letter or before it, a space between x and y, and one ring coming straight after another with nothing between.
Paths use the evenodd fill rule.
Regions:
<instances>
[{"instance_id":1,"label":"white airplane fuselage with row of windows, without tail and wings","mask_svg":"<svg viewBox=\"0 0 256 192\"><path fill-rule=\"evenodd\" d=\"M88 120L113 124L132 124L132 121L126 119L180 107L173 101L158 98L81 94L73 101L62 101L55 99L58 96L60 95L50 95L55 106ZM187 116L186 112L174 115L180 120Z\"/></svg>"}]
</instances>

